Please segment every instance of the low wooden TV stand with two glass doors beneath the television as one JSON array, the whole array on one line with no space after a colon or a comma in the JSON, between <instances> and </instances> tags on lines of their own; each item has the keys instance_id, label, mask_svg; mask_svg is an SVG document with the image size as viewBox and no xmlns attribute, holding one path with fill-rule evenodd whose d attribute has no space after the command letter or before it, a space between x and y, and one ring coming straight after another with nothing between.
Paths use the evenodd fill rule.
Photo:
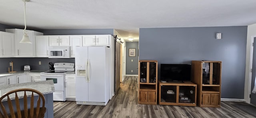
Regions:
<instances>
[{"instance_id":1,"label":"low wooden TV stand with two glass doors beneath the television","mask_svg":"<svg viewBox=\"0 0 256 118\"><path fill-rule=\"evenodd\" d=\"M196 106L196 84L192 82L162 83L161 81L158 83L160 105ZM169 89L174 93L168 94ZM188 100L182 100L182 98L188 98Z\"/></svg>"}]
</instances>

